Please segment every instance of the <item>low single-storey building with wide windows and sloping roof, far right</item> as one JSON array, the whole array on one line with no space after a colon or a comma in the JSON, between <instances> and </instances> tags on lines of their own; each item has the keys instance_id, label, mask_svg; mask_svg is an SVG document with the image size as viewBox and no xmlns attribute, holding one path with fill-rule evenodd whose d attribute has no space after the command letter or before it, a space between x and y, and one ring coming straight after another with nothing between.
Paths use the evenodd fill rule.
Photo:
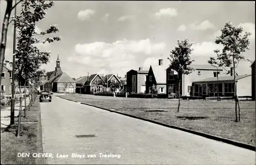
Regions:
<instances>
[{"instance_id":1,"label":"low single-storey building with wide windows and sloping roof, far right","mask_svg":"<svg viewBox=\"0 0 256 165\"><path fill-rule=\"evenodd\" d=\"M210 77L193 82L193 96L208 96L208 97L230 97L234 96L233 76L226 77ZM251 95L251 75L236 76L237 95L250 96ZM217 85L219 84L219 85ZM244 85L246 84L246 85Z\"/></svg>"}]
</instances>

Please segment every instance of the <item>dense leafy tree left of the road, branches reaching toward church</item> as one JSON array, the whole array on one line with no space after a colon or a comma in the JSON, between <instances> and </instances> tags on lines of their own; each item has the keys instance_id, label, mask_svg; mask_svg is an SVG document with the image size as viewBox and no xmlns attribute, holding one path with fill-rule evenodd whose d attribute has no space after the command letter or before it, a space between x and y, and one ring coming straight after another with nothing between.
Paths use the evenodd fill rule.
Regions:
<instances>
[{"instance_id":1,"label":"dense leafy tree left of the road, branches reaching toward church","mask_svg":"<svg viewBox=\"0 0 256 165\"><path fill-rule=\"evenodd\" d=\"M53 5L54 3L52 1L23 1L20 16L11 18L11 22L13 22L18 31L15 71L18 77L25 78L25 83L34 76L42 64L47 64L49 62L51 52L40 51L36 47L36 44L46 42L51 43L60 40L60 37L47 37L45 40L36 38L36 36L44 36L59 31L56 25L51 25L45 32L36 33L35 31L36 22L45 18L45 10L51 8ZM20 101L20 104L21 103L22 101ZM20 107L19 114L21 114L21 109L22 108ZM18 126L19 125L20 115ZM19 127L17 135L19 135Z\"/></svg>"}]
</instances>

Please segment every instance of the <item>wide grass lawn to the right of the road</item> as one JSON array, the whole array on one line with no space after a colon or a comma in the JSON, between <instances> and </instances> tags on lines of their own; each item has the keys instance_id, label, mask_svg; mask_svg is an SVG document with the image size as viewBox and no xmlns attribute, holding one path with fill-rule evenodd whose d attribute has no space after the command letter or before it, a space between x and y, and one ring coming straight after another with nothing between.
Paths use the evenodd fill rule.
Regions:
<instances>
[{"instance_id":1,"label":"wide grass lawn to the right of the road","mask_svg":"<svg viewBox=\"0 0 256 165\"><path fill-rule=\"evenodd\" d=\"M181 100L177 113L178 100L90 95L59 97L255 146L255 102L252 101L240 101L241 122L236 123L232 101Z\"/></svg>"}]
</instances>

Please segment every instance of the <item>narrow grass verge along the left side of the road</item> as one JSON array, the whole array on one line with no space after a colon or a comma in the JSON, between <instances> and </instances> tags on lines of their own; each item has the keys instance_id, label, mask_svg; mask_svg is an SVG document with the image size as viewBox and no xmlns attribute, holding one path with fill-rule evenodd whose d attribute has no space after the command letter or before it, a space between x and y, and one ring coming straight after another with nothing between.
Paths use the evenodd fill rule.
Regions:
<instances>
[{"instance_id":1,"label":"narrow grass verge along the left side of the road","mask_svg":"<svg viewBox=\"0 0 256 165\"><path fill-rule=\"evenodd\" d=\"M20 124L20 136L16 137L18 117L15 124L7 127L1 133L1 160L4 164L42 164L42 158L34 158L33 153L42 153L41 128L39 126L40 104L36 100L26 111L24 111ZM31 123L36 122L36 123ZM30 157L17 157L17 153L30 153Z\"/></svg>"}]
</instances>

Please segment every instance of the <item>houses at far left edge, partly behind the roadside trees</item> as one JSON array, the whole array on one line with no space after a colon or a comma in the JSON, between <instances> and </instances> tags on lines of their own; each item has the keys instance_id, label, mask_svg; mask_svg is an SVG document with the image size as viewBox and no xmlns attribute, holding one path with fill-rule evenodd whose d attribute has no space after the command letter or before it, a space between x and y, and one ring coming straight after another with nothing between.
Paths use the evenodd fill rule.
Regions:
<instances>
[{"instance_id":1,"label":"houses at far left edge, partly behind the roadside trees","mask_svg":"<svg viewBox=\"0 0 256 165\"><path fill-rule=\"evenodd\" d=\"M25 88L27 89L26 92L29 90L29 84L26 83L23 77L18 77L18 75L14 74L14 93L17 94L19 92L24 92ZM20 88L19 91L18 82L20 80ZM4 96L10 96L12 93L12 68L7 65L6 63L3 64L3 71L1 73L1 98Z\"/></svg>"}]
</instances>

